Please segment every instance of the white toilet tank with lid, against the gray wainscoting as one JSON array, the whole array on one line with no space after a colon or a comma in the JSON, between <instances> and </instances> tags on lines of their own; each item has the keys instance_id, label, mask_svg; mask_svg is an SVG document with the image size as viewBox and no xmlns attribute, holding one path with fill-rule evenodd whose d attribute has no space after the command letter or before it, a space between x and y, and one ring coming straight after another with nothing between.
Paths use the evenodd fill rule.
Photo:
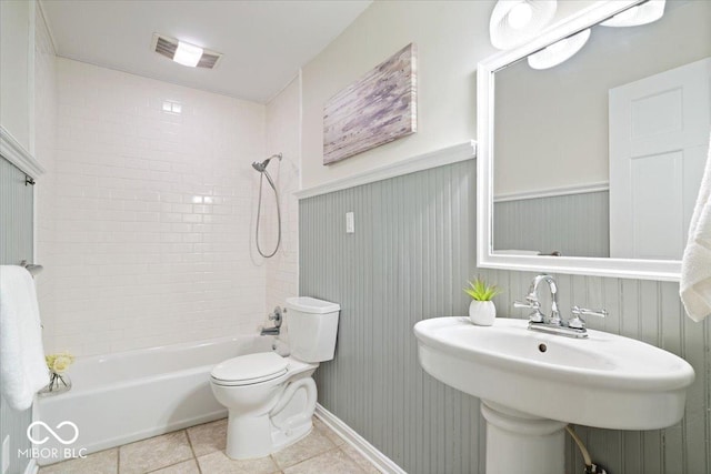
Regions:
<instances>
[{"instance_id":1,"label":"white toilet tank with lid, against the gray wainscoting","mask_svg":"<svg viewBox=\"0 0 711 474\"><path fill-rule=\"evenodd\" d=\"M309 296L287 299L291 355L303 362L333 359L341 306Z\"/></svg>"}]
</instances>

